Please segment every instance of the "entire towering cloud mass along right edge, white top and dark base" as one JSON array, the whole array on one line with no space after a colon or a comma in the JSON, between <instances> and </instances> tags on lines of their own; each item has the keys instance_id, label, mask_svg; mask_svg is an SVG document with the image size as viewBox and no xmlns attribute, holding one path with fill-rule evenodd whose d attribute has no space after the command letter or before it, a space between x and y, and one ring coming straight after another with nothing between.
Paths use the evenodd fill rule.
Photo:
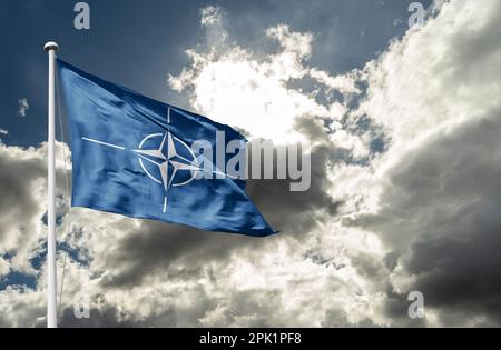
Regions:
<instances>
[{"instance_id":1,"label":"entire towering cloud mass along right edge, white top and dark base","mask_svg":"<svg viewBox=\"0 0 501 350\"><path fill-rule=\"evenodd\" d=\"M366 67L356 112L391 141L374 176L361 177L373 196L344 222L376 232L389 249L396 322L405 322L395 311L402 316L411 290L423 292L431 324L500 321L501 8L484 4L438 4L435 18Z\"/></svg>"}]
</instances>

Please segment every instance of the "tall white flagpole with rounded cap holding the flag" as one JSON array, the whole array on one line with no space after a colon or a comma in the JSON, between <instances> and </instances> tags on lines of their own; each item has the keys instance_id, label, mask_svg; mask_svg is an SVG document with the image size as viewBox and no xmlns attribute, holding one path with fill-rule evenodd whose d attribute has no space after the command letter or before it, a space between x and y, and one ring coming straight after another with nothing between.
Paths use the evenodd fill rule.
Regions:
<instances>
[{"instance_id":1,"label":"tall white flagpole with rounded cap holding the flag","mask_svg":"<svg viewBox=\"0 0 501 350\"><path fill-rule=\"evenodd\" d=\"M47 328L57 328L57 276L56 276L56 160L55 160L55 124L56 124L56 53L59 47L49 41L43 47L49 53L49 161L48 168L48 200L47 200Z\"/></svg>"}]
</instances>

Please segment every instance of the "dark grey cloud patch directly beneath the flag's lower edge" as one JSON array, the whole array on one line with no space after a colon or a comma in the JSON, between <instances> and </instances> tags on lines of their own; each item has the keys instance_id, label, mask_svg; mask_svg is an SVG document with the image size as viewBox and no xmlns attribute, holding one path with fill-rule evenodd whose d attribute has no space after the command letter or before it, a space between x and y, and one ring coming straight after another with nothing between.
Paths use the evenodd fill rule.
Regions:
<instances>
[{"instance_id":1,"label":"dark grey cloud patch directly beneath the flag's lower edge","mask_svg":"<svg viewBox=\"0 0 501 350\"><path fill-rule=\"evenodd\" d=\"M106 258L108 268L116 269L116 274L107 276L102 286L137 286L150 276L179 273L169 269L179 260L187 263L180 273L198 276L204 263L227 258L233 247L249 243L248 240L235 234L214 234L184 226L144 221Z\"/></svg>"}]
</instances>

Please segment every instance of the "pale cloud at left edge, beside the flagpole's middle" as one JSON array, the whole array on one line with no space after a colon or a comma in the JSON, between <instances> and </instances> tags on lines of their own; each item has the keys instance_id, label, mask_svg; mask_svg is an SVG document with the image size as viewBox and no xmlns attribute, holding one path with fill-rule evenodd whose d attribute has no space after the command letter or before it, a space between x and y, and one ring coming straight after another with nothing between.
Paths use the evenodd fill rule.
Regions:
<instances>
[{"instance_id":1,"label":"pale cloud at left edge, beside the flagpole's middle","mask_svg":"<svg viewBox=\"0 0 501 350\"><path fill-rule=\"evenodd\" d=\"M57 144L58 156L61 147ZM46 143L28 149L0 144L0 254L12 256L12 270L30 274L37 273L30 259L40 252L46 232ZM65 181L62 157L57 160L57 180Z\"/></svg>"}]
</instances>

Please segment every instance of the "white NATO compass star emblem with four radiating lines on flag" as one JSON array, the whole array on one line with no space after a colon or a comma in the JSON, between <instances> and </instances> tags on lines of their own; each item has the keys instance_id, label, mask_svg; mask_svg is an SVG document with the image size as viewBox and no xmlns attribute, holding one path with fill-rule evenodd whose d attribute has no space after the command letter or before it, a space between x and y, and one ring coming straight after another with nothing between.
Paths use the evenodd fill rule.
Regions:
<instances>
[{"instance_id":1,"label":"white NATO compass star emblem with four radiating lines on flag","mask_svg":"<svg viewBox=\"0 0 501 350\"><path fill-rule=\"evenodd\" d=\"M170 108L167 109L167 123L170 123ZM81 139L105 147L125 150L125 147L100 140L87 137ZM138 148L131 151L137 156L139 164L148 178L163 187L165 191L164 212L167 212L167 193L169 188L188 184L199 171L204 171L199 167L191 148L176 136L173 136L170 131L148 134L140 141ZM222 173L219 171L213 172Z\"/></svg>"}]
</instances>

